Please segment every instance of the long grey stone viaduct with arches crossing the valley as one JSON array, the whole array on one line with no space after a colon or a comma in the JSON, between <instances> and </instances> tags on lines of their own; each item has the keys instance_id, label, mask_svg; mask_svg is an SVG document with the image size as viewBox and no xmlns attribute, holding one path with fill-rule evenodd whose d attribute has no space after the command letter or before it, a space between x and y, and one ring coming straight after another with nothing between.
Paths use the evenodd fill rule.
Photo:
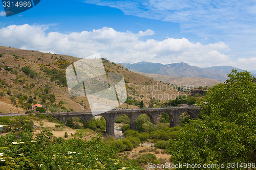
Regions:
<instances>
[{"instance_id":1,"label":"long grey stone viaduct with arches crossing the valley","mask_svg":"<svg viewBox=\"0 0 256 170\"><path fill-rule=\"evenodd\" d=\"M135 130L135 120L141 114L147 114L151 122L156 125L157 117L160 114L167 113L170 117L170 127L177 126L178 119L181 113L187 112L191 118L197 118L200 107L169 107L169 108L151 108L151 109L125 109L125 110L111 110L106 111L101 114L97 114L97 116L102 116L106 120L106 134L115 135L114 132L114 123L118 116L122 114L126 114L130 118L130 128ZM45 113L46 115L51 115L54 118L61 120L66 123L66 121L71 117L79 117L85 123L86 120L90 122L90 120L94 117L94 115L88 112L63 112L63 113ZM96 116L96 115L95 115Z\"/></svg>"}]
</instances>

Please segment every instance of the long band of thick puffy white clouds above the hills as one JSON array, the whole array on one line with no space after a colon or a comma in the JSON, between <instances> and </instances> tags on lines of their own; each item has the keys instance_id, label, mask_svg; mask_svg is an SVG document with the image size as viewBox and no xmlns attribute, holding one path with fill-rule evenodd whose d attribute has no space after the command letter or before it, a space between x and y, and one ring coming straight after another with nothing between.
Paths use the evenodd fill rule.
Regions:
<instances>
[{"instance_id":1,"label":"long band of thick puffy white clouds above the hills","mask_svg":"<svg viewBox=\"0 0 256 170\"><path fill-rule=\"evenodd\" d=\"M39 50L57 54L67 54L84 58L96 53L114 62L135 63L149 61L157 63L186 62L190 65L207 67L231 63L225 51L229 47L223 42L203 45L193 43L186 38L167 38L163 41L154 39L140 40L153 35L154 31L118 32L112 28L61 34L46 33L48 27L30 25L11 25L0 29L0 44L28 50ZM254 60L253 60L254 62ZM243 68L248 68L252 61L239 59Z\"/></svg>"}]
</instances>

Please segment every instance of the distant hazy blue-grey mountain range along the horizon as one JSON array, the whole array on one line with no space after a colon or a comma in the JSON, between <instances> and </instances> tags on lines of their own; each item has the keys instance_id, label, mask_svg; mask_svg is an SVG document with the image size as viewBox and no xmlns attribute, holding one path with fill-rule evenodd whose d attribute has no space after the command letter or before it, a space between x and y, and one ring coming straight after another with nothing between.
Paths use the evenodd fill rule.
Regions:
<instances>
[{"instance_id":1,"label":"distant hazy blue-grey mountain range along the horizon","mask_svg":"<svg viewBox=\"0 0 256 170\"><path fill-rule=\"evenodd\" d=\"M176 77L201 77L214 79L218 81L226 81L227 74L229 74L232 68L238 71L243 71L240 68L232 66L212 66L207 68L200 68L197 66L191 66L187 63L172 63L172 64L161 64L152 62L138 62L134 64L130 63L119 63L125 68L130 70L135 70L139 72L144 72L148 74L158 74L166 76L176 76ZM251 75L256 77L256 71L249 71Z\"/></svg>"}]
</instances>

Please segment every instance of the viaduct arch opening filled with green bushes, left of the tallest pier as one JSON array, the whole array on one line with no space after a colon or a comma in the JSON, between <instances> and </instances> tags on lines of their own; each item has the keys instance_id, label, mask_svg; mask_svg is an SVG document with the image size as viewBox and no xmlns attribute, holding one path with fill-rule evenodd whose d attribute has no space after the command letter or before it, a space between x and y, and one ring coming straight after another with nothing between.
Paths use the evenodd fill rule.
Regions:
<instances>
[{"instance_id":1,"label":"viaduct arch opening filled with green bushes, left of the tallest pier","mask_svg":"<svg viewBox=\"0 0 256 170\"><path fill-rule=\"evenodd\" d=\"M94 116L90 120L88 127L89 127L89 129L92 129L96 132L105 133L106 132L106 124L108 124L108 123L106 122L106 119L103 116Z\"/></svg>"}]
</instances>

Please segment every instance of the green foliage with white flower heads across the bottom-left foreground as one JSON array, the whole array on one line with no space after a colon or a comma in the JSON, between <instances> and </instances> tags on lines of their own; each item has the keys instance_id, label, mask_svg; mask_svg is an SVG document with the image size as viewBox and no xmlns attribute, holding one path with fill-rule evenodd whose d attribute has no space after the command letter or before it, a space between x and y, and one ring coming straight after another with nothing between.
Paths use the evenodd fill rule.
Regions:
<instances>
[{"instance_id":1,"label":"green foliage with white flower heads across the bottom-left foreground","mask_svg":"<svg viewBox=\"0 0 256 170\"><path fill-rule=\"evenodd\" d=\"M36 138L28 132L1 136L0 169L141 169L134 161L117 158L115 147L104 143L101 135L90 141L51 138L47 130Z\"/></svg>"}]
</instances>

